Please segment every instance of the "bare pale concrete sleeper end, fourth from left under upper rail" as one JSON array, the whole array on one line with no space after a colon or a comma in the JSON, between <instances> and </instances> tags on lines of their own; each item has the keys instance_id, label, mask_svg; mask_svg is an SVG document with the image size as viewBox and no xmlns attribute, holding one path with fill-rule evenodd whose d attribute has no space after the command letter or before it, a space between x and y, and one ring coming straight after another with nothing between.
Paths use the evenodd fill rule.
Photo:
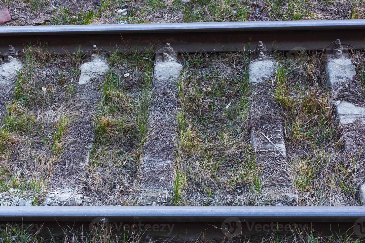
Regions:
<instances>
[{"instance_id":1,"label":"bare pale concrete sleeper end, fourth from left under upper rail","mask_svg":"<svg viewBox=\"0 0 365 243\"><path fill-rule=\"evenodd\" d=\"M276 64L273 60L263 59L253 61L249 64L250 83L262 83L274 76Z\"/></svg>"}]
</instances>

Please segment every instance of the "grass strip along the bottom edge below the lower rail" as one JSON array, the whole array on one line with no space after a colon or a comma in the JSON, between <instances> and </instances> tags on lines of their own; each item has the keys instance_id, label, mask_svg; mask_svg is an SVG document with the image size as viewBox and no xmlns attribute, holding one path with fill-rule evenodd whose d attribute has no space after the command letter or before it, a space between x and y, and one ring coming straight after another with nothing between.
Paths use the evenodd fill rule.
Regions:
<instances>
[{"instance_id":1,"label":"grass strip along the bottom edge below the lower rail","mask_svg":"<svg viewBox=\"0 0 365 243\"><path fill-rule=\"evenodd\" d=\"M16 243L16 242L29 242L29 243L38 243L38 242L55 242L55 243L73 243L73 242L125 242L125 243L142 243L142 242L160 242L160 243L168 243L168 242L181 242L181 240L175 239L166 239L166 238L158 238L151 237L147 238L150 240L146 240L146 234L139 235L134 233L133 235L124 236L123 234L112 234L109 229L101 229L98 234L87 234L85 232L79 232L78 234L72 234L65 230L65 234L62 236L49 236L42 235L39 233L30 234L27 233L22 226L19 227L6 227L0 229L0 237L5 240L7 243ZM332 235L321 235L318 232L305 229L297 231L296 228L293 228L293 232L289 232L288 234L277 234L276 232L273 234L263 234L256 236L239 236L236 238L226 237L224 239L205 239L206 236L201 237L200 240L185 240L187 243L250 243L250 242L258 242L258 243L358 243L363 242L362 238L358 238L354 235L350 235L348 232L341 232L341 234L332 234Z\"/></svg>"}]
</instances>

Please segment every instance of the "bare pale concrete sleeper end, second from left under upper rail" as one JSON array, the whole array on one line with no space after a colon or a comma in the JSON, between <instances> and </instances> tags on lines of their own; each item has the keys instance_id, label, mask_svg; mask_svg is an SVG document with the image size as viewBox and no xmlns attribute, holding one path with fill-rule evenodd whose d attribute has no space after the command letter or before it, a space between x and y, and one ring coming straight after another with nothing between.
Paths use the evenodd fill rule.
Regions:
<instances>
[{"instance_id":1,"label":"bare pale concrete sleeper end, second from left under upper rail","mask_svg":"<svg viewBox=\"0 0 365 243\"><path fill-rule=\"evenodd\" d=\"M92 61L83 63L80 66L80 79L78 80L79 85L85 85L95 79L99 79L101 76L106 74L109 70L109 65L104 58L92 55Z\"/></svg>"}]
</instances>

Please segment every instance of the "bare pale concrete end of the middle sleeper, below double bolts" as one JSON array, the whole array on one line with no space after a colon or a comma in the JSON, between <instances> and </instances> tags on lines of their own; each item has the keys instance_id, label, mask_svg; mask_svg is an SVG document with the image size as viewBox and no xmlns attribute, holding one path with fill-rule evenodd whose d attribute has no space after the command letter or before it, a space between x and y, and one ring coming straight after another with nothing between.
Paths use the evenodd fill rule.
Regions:
<instances>
[{"instance_id":1,"label":"bare pale concrete end of the middle sleeper, below double bolts","mask_svg":"<svg viewBox=\"0 0 365 243\"><path fill-rule=\"evenodd\" d=\"M183 65L180 63L170 59L166 61L161 60L155 64L153 77L157 81L178 79L181 70L183 70Z\"/></svg>"}]
</instances>

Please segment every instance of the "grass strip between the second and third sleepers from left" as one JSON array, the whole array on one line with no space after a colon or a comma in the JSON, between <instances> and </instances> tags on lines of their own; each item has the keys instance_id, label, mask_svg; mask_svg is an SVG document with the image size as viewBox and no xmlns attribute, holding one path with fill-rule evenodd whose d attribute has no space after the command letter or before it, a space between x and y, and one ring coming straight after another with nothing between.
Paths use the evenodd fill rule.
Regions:
<instances>
[{"instance_id":1,"label":"grass strip between the second and third sleepers from left","mask_svg":"<svg viewBox=\"0 0 365 243\"><path fill-rule=\"evenodd\" d=\"M137 171L148 131L152 54L110 55L85 175L90 205L139 205Z\"/></svg>"}]
</instances>

